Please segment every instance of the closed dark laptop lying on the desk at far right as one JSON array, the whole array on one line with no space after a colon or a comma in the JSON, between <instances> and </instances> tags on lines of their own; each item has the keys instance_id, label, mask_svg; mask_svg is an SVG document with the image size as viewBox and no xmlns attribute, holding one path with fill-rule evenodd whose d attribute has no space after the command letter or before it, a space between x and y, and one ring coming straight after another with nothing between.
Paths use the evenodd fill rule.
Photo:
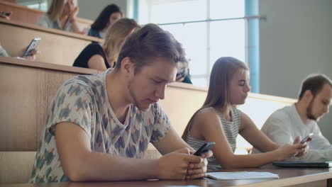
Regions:
<instances>
[{"instance_id":1,"label":"closed dark laptop lying on the desk at far right","mask_svg":"<svg viewBox=\"0 0 332 187\"><path fill-rule=\"evenodd\" d=\"M278 167L329 168L332 167L332 161L279 161L272 162L272 165Z\"/></svg>"}]
</instances>

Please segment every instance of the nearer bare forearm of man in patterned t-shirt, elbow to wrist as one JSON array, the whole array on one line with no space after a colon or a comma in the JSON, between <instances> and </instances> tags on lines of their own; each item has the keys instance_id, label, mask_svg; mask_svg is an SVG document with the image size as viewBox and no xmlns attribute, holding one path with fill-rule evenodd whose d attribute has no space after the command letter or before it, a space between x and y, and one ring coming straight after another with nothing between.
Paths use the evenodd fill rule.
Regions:
<instances>
[{"instance_id":1,"label":"nearer bare forearm of man in patterned t-shirt, elbow to wrist","mask_svg":"<svg viewBox=\"0 0 332 187\"><path fill-rule=\"evenodd\" d=\"M81 162L80 164L78 162ZM69 168L70 167L70 168ZM65 171L70 181L123 181L157 179L157 159L133 159L90 152Z\"/></svg>"}]
</instances>

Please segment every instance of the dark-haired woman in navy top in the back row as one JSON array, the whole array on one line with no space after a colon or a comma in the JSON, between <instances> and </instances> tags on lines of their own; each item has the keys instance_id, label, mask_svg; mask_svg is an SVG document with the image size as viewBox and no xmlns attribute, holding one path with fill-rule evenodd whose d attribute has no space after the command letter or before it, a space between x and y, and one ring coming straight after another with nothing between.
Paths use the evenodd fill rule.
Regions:
<instances>
[{"instance_id":1,"label":"dark-haired woman in navy top in the back row","mask_svg":"<svg viewBox=\"0 0 332 187\"><path fill-rule=\"evenodd\" d=\"M120 7L116 4L109 4L101 11L96 21L92 23L88 35L104 39L107 28L122 17L123 13Z\"/></svg>"}]
</instances>

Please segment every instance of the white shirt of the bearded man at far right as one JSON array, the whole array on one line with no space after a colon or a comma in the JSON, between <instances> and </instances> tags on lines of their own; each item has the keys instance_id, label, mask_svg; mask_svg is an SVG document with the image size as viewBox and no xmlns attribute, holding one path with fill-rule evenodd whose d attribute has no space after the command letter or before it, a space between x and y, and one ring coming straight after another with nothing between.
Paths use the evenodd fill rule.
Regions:
<instances>
[{"instance_id":1,"label":"white shirt of the bearded man at far right","mask_svg":"<svg viewBox=\"0 0 332 187\"><path fill-rule=\"evenodd\" d=\"M309 152L302 157L293 157L291 160L332 160L332 145L321 134L319 125L314 120L304 124L294 104L272 113L261 130L279 145L286 143L292 145L297 136L302 139L313 132L314 136L307 144ZM255 152L258 152L257 149Z\"/></svg>"}]
</instances>

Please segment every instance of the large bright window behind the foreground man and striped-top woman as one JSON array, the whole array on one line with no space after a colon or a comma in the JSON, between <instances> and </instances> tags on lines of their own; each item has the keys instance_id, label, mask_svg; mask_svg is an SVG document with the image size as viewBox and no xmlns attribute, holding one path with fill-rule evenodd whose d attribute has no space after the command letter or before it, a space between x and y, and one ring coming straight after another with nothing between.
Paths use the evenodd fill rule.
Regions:
<instances>
[{"instance_id":1,"label":"large bright window behind the foreground man and striped-top woman","mask_svg":"<svg viewBox=\"0 0 332 187\"><path fill-rule=\"evenodd\" d=\"M138 22L169 30L187 53L194 85L208 86L219 57L247 62L245 0L141 0Z\"/></svg>"}]
</instances>

